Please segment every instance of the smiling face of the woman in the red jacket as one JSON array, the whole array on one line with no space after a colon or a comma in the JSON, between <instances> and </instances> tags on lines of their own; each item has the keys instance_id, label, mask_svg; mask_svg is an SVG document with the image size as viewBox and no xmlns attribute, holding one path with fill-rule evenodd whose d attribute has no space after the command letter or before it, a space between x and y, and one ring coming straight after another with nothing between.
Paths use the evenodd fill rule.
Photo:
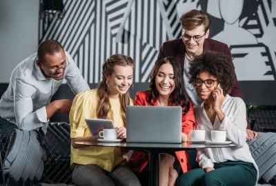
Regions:
<instances>
[{"instance_id":1,"label":"smiling face of the woman in the red jacket","mask_svg":"<svg viewBox=\"0 0 276 186\"><path fill-rule=\"evenodd\" d=\"M175 90L175 74L170 63L164 63L160 66L155 76L155 86L159 96L166 96L167 98Z\"/></svg>"}]
</instances>

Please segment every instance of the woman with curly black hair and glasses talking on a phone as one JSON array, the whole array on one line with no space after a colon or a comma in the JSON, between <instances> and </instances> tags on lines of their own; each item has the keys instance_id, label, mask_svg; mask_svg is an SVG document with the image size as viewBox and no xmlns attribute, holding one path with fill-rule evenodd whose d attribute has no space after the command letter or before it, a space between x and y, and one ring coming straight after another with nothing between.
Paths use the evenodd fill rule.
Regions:
<instances>
[{"instance_id":1,"label":"woman with curly black hair and glasses talking on a phone","mask_svg":"<svg viewBox=\"0 0 276 186\"><path fill-rule=\"evenodd\" d=\"M235 147L197 149L199 169L183 174L177 185L255 185L258 167L246 143L246 105L239 97L229 96L234 68L225 54L205 52L190 64L190 83L204 100L195 109L197 129L226 130L227 141Z\"/></svg>"}]
</instances>

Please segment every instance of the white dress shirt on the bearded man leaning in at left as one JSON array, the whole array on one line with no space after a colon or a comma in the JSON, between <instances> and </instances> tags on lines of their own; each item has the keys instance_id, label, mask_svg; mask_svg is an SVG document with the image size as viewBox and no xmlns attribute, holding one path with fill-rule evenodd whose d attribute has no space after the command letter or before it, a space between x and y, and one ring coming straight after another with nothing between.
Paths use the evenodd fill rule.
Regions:
<instances>
[{"instance_id":1,"label":"white dress shirt on the bearded man leaning in at left","mask_svg":"<svg viewBox=\"0 0 276 186\"><path fill-rule=\"evenodd\" d=\"M43 76L36 60L37 53L32 54L12 71L8 89L0 100L0 116L16 124L19 129L34 130L42 127L46 132L46 105L50 103L52 95L57 92L63 79L66 79L75 94L89 90L90 87L68 52L64 76L59 81Z\"/></svg>"}]
</instances>

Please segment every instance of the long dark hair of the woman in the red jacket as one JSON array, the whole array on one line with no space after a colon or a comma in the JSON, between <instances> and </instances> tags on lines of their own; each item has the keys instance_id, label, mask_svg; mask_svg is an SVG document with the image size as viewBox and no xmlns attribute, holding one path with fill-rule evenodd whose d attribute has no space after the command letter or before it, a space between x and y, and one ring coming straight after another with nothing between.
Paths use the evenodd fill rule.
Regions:
<instances>
[{"instance_id":1,"label":"long dark hair of the woman in the red jacket","mask_svg":"<svg viewBox=\"0 0 276 186\"><path fill-rule=\"evenodd\" d=\"M155 67L152 70L152 74L150 76L150 96L148 96L148 103L153 105L152 99L157 99L158 90L155 85L155 78L157 76L157 72L161 65L165 63L170 63L172 65L173 73L175 76L175 90L170 94L168 102L173 105L181 105L181 107L185 107L184 114L188 112L190 108L190 102L188 99L188 94L184 88L184 79L182 76L181 65L177 62L174 57L165 57L164 59L160 59L155 62Z\"/></svg>"}]
</instances>

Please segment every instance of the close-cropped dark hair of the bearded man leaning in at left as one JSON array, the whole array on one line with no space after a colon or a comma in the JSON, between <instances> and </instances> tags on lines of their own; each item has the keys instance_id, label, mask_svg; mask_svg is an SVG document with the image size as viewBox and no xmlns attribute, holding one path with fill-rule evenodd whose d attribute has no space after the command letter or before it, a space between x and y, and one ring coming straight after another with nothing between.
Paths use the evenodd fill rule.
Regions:
<instances>
[{"instance_id":1,"label":"close-cropped dark hair of the bearded man leaning in at left","mask_svg":"<svg viewBox=\"0 0 276 186\"><path fill-rule=\"evenodd\" d=\"M37 58L39 61L44 61L44 56L46 54L52 55L55 54L55 52L59 52L60 50L63 50L63 46L61 43L59 43L59 41L52 39L43 41L37 49Z\"/></svg>"}]
</instances>

